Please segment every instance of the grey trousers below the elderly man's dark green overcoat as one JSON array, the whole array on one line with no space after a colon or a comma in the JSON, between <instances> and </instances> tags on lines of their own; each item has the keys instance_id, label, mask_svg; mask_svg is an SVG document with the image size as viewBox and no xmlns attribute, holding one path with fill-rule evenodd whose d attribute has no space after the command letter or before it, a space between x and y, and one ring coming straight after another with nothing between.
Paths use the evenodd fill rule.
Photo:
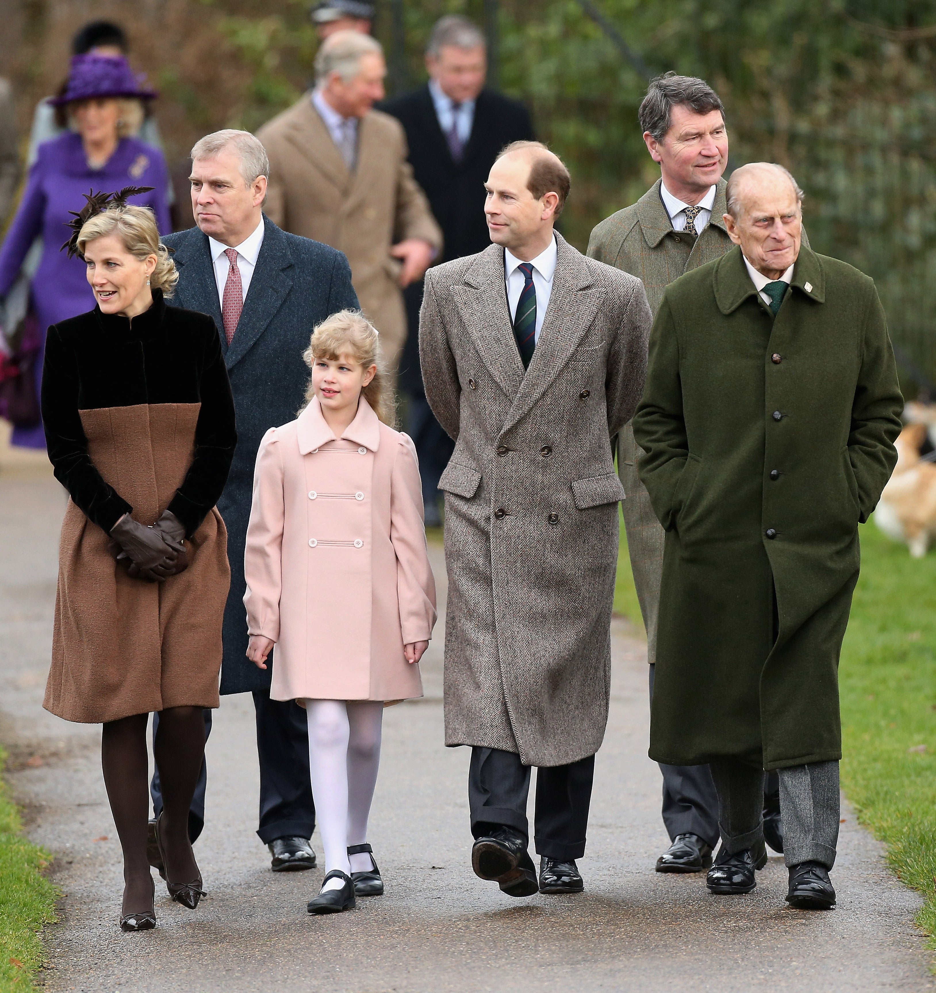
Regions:
<instances>
[{"instance_id":1,"label":"grey trousers below the elderly man's dark green overcoat","mask_svg":"<svg viewBox=\"0 0 936 993\"><path fill-rule=\"evenodd\" d=\"M750 848L763 837L764 774L730 761L708 768L718 793L721 844L731 853ZM784 862L819 862L831 869L839 841L839 763L790 766L778 776Z\"/></svg>"}]
</instances>

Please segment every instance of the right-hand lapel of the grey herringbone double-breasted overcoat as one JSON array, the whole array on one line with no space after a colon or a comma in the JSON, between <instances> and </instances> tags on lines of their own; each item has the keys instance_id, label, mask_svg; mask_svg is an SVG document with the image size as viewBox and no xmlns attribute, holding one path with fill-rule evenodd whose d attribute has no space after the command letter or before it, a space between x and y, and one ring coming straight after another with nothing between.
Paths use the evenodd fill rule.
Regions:
<instances>
[{"instance_id":1,"label":"right-hand lapel of the grey herringbone double-breasted overcoat","mask_svg":"<svg viewBox=\"0 0 936 993\"><path fill-rule=\"evenodd\" d=\"M507 415L504 431L525 417L543 396L591 326L603 299L603 293L594 287L581 255L561 234L556 233L555 241L555 274L546 317L530 367ZM502 273L502 282L503 279ZM511 345L517 353L513 341Z\"/></svg>"}]
</instances>

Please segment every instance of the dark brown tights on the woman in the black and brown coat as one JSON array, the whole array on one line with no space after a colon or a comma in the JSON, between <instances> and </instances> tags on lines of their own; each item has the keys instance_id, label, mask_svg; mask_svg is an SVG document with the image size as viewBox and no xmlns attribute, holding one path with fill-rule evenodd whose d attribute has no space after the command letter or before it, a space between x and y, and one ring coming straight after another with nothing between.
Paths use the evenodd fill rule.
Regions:
<instances>
[{"instance_id":1,"label":"dark brown tights on the woman in the black and brown coat","mask_svg":"<svg viewBox=\"0 0 936 993\"><path fill-rule=\"evenodd\" d=\"M134 714L108 721L101 736L104 784L123 850L123 914L143 913L153 907L152 874L146 859L148 718L148 714ZM166 856L166 875L173 883L190 883L199 875L189 841L189 807L205 754L202 708L169 707L161 711L153 753L162 783L159 837Z\"/></svg>"}]
</instances>

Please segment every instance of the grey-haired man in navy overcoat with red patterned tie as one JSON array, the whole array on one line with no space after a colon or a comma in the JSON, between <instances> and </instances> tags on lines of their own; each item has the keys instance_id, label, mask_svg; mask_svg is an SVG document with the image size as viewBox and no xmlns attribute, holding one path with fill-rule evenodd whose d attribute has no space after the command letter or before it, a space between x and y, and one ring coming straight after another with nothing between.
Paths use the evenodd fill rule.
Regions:
<instances>
[{"instance_id":1,"label":"grey-haired man in navy overcoat with red patterned tie","mask_svg":"<svg viewBox=\"0 0 936 993\"><path fill-rule=\"evenodd\" d=\"M173 303L215 318L234 391L237 447L218 501L228 525L231 561L221 692L253 694L260 762L257 834L270 848L272 867L309 869L315 865L309 845L315 806L305 711L295 701L270 700L271 670L258 669L246 658L243 546L260 439L296 416L309 378L302 353L312 329L336 311L357 308L358 297L342 252L288 234L263 216L269 162L253 135L210 134L192 149L192 159L198 226L163 240L179 269ZM207 730L210 714L206 711ZM153 781L153 805L158 814L158 780ZM191 827L201 830L204 808L203 769Z\"/></svg>"}]
</instances>

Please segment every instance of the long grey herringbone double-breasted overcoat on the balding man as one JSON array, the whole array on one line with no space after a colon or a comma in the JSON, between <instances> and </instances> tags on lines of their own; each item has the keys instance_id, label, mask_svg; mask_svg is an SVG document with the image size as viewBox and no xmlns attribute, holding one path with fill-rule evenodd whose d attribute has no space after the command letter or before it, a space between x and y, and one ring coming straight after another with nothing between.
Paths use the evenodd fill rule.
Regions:
<instances>
[{"instance_id":1,"label":"long grey herringbone double-breasted overcoat on the balding man","mask_svg":"<svg viewBox=\"0 0 936 993\"><path fill-rule=\"evenodd\" d=\"M498 245L430 269L419 323L426 397L456 443L439 484L445 743L532 766L604 736L624 497L611 438L640 399L651 323L639 280L556 242L526 372Z\"/></svg>"}]
</instances>

